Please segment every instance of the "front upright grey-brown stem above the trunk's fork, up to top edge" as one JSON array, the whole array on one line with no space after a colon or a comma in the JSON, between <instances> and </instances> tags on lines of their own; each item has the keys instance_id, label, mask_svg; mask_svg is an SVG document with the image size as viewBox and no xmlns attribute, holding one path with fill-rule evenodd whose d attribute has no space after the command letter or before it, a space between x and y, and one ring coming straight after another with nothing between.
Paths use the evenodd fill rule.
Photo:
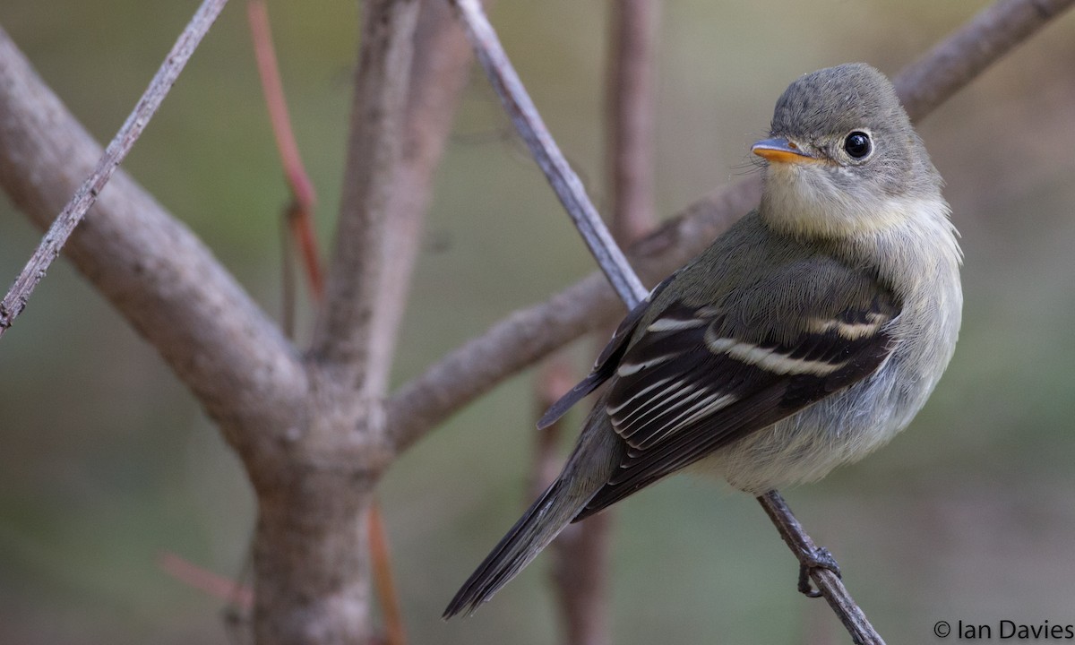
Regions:
<instances>
[{"instance_id":1,"label":"front upright grey-brown stem above the trunk's fork, up to top edge","mask_svg":"<svg viewBox=\"0 0 1075 645\"><path fill-rule=\"evenodd\" d=\"M375 318L389 261L385 230L402 157L419 2L370 0L363 8L335 248L312 349L344 387L373 400L390 368L371 354L378 344Z\"/></svg>"}]
</instances>

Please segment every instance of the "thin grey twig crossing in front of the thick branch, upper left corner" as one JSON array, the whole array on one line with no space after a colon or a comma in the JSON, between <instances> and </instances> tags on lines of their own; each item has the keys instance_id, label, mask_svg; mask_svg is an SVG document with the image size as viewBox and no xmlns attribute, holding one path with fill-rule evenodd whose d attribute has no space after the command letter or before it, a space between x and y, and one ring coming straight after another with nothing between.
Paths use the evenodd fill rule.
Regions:
<instances>
[{"instance_id":1,"label":"thin grey twig crossing in front of the thick branch, upper left corner","mask_svg":"<svg viewBox=\"0 0 1075 645\"><path fill-rule=\"evenodd\" d=\"M26 309L27 300L33 293L34 287L45 276L45 271L48 270L53 260L59 256L60 249L71 236L71 232L97 201L97 196L112 178L112 173L115 172L134 142L141 137L149 119L157 112L157 108L168 96L172 84L180 77L180 72L183 71L187 61L190 60L190 56L198 48L198 43L201 42L202 37L209 31L227 2L228 0L204 0L195 12L178 40L175 41L175 45L172 46L172 51L164 58L164 62L161 63L160 69L149 82L142 98L134 105L134 110L119 128L109 147L105 148L101 159L97 162L97 168L56 217L41 244L30 256L23 272L18 274L8 295L0 301L0 336L11 327L15 317Z\"/></svg>"}]
</instances>

